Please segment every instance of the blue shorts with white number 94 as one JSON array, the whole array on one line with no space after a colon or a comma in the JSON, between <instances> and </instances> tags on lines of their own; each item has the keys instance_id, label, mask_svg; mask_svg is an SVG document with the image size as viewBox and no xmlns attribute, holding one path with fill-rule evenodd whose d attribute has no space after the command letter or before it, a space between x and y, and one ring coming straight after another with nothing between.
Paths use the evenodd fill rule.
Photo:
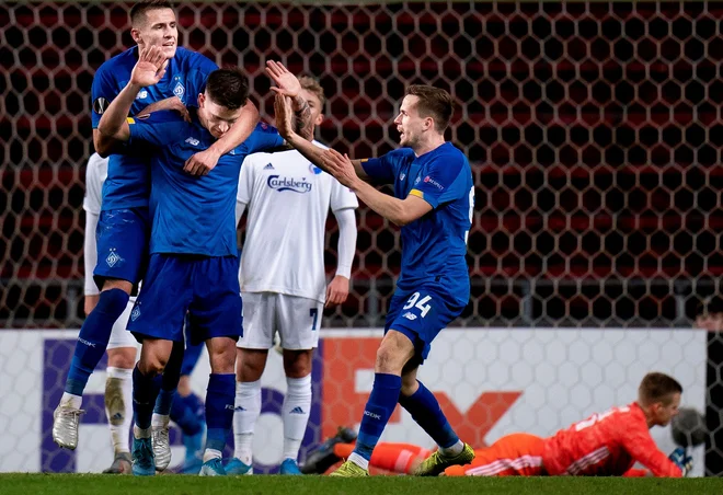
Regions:
<instances>
[{"instance_id":1,"label":"blue shorts with white number 94","mask_svg":"<svg viewBox=\"0 0 723 495\"><path fill-rule=\"evenodd\" d=\"M387 312L385 334L390 330L406 335L414 344L414 358L422 364L429 355L432 341L464 310L439 285L425 284L414 291L397 291Z\"/></svg>"}]
</instances>

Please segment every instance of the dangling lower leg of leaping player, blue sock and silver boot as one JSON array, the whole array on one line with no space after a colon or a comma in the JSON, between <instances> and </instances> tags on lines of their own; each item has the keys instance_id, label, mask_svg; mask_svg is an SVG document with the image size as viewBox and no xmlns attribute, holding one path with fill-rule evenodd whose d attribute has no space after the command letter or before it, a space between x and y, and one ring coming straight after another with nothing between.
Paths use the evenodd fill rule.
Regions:
<instances>
[{"instance_id":1,"label":"dangling lower leg of leaping player, blue sock and silver boot","mask_svg":"<svg viewBox=\"0 0 723 495\"><path fill-rule=\"evenodd\" d=\"M129 281L106 280L97 306L80 329L66 389L53 413L53 440L62 448L74 450L78 447L83 390L105 353L113 324L125 310L131 289Z\"/></svg>"}]
</instances>

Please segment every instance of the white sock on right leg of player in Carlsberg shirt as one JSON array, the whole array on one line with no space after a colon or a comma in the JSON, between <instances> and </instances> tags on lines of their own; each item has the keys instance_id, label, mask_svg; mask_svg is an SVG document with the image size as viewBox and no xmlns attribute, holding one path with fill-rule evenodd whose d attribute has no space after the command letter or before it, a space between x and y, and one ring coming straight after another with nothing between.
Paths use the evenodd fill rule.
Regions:
<instances>
[{"instance_id":1,"label":"white sock on right leg of player in Carlsberg shirt","mask_svg":"<svg viewBox=\"0 0 723 495\"><path fill-rule=\"evenodd\" d=\"M286 383L288 388L282 405L284 459L296 461L311 412L311 375L303 378L286 377Z\"/></svg>"}]
</instances>

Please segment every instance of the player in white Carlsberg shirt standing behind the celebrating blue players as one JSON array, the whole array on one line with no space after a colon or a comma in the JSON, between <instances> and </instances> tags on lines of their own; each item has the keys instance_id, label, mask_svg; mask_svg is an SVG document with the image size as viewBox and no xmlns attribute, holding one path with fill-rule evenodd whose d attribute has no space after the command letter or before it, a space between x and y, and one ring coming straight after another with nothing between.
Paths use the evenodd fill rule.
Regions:
<instances>
[{"instance_id":1,"label":"player in white Carlsberg shirt standing behind the celebrating blue players","mask_svg":"<svg viewBox=\"0 0 723 495\"><path fill-rule=\"evenodd\" d=\"M300 82L312 123L319 125L323 90L311 78L300 78ZM324 301L326 307L340 304L348 296L358 203L347 187L290 150L246 158L239 179L237 219L246 205L249 221L239 270L244 330L237 353L236 450L226 470L229 474L251 472L261 376L278 332L288 387L282 405L282 474L301 474L297 457L311 410L312 353L319 343ZM336 276L326 286L324 227L330 206L338 223L338 261Z\"/></svg>"}]
</instances>

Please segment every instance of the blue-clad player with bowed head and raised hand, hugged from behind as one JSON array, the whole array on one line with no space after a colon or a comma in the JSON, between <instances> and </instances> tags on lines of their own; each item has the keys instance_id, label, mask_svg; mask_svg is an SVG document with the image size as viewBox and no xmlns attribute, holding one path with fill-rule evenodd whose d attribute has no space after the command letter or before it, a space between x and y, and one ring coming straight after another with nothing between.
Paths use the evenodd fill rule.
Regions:
<instances>
[{"instance_id":1,"label":"blue-clad player with bowed head and raised hand, hugged from behind","mask_svg":"<svg viewBox=\"0 0 723 495\"><path fill-rule=\"evenodd\" d=\"M275 90L292 97L294 110L311 128L311 113L299 95L298 79L268 62ZM208 149L232 128L246 102L249 87L238 69L211 72L191 110L191 122L173 112L144 119L126 118L138 93L163 80L164 58L158 46L144 47L126 87L105 111L99 131L150 152L152 219L150 260L145 284L130 313L130 330L142 341L133 372L133 472L156 472L151 416L172 349L183 343L188 313L191 343L205 341L211 375L206 394L206 449L202 475L225 475L221 452L233 419L236 341L242 333L236 239L236 195L246 154L284 143L273 127L259 124L239 147L223 154L207 175L195 177L184 163Z\"/></svg>"}]
</instances>

